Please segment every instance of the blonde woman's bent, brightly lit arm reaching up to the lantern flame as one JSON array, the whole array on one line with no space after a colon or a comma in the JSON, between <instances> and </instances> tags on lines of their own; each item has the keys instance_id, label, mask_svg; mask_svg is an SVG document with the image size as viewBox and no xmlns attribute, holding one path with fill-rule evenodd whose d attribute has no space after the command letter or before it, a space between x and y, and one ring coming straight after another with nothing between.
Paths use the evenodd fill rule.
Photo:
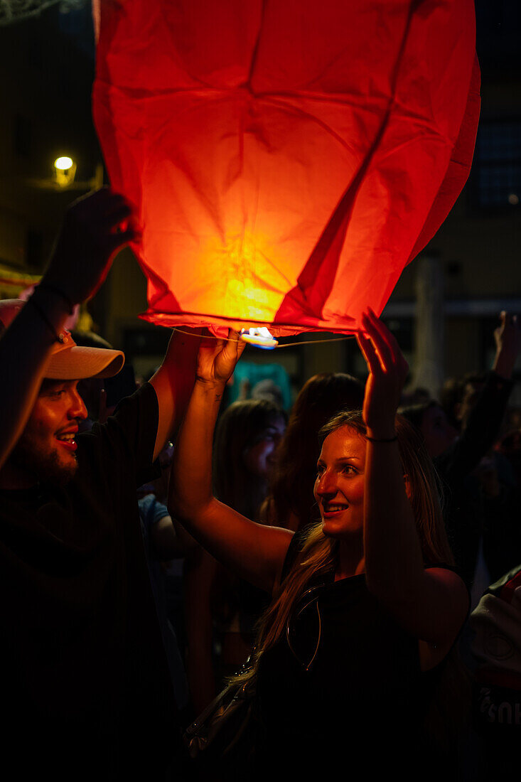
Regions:
<instances>
[{"instance_id":1,"label":"blonde woman's bent, brightly lit arm reaching up to the lantern flame","mask_svg":"<svg viewBox=\"0 0 521 782\"><path fill-rule=\"evenodd\" d=\"M243 352L239 333L203 339L196 382L174 448L168 510L217 560L237 576L271 592L292 533L256 524L215 499L212 443L226 382Z\"/></svg>"}]
</instances>

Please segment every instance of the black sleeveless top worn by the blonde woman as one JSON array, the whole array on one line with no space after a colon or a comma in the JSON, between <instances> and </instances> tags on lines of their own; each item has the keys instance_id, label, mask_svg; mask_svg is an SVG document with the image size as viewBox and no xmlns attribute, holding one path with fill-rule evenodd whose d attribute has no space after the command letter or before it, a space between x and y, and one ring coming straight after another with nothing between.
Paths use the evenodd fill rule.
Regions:
<instances>
[{"instance_id":1,"label":"black sleeveless top worn by the blonde woman","mask_svg":"<svg viewBox=\"0 0 521 782\"><path fill-rule=\"evenodd\" d=\"M347 759L353 771L355 753L368 773L394 769L404 780L422 769L425 779L432 758L423 722L444 664L422 673L418 639L372 596L363 574L336 582L333 571L322 574L292 617L260 659L259 778L281 762L299 780Z\"/></svg>"}]
</instances>

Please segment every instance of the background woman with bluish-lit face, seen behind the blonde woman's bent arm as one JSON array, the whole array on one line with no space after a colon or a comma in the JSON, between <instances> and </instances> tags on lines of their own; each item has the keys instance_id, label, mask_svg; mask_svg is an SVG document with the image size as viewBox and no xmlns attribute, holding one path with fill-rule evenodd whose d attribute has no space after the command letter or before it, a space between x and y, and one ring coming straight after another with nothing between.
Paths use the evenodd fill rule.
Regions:
<instances>
[{"instance_id":1,"label":"background woman with bluish-lit face, seen behind the blonde woman's bent arm","mask_svg":"<svg viewBox=\"0 0 521 782\"><path fill-rule=\"evenodd\" d=\"M217 422L213 449L218 500L259 520L286 414L268 400L232 403ZM201 547L185 572L186 665L196 713L214 698L225 676L249 657L254 627L269 595L233 576Z\"/></svg>"}]
</instances>

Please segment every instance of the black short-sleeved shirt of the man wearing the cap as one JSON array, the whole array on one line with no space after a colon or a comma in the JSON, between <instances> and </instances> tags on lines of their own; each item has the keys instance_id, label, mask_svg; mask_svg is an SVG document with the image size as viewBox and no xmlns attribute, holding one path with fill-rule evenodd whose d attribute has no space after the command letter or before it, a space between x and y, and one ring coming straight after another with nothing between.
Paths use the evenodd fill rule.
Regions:
<instances>
[{"instance_id":1,"label":"black short-sleeved shirt of the man wearing the cap","mask_svg":"<svg viewBox=\"0 0 521 782\"><path fill-rule=\"evenodd\" d=\"M163 779L177 714L136 489L155 474L148 383L77 437L66 486L0 493L2 766L13 779Z\"/></svg>"}]
</instances>

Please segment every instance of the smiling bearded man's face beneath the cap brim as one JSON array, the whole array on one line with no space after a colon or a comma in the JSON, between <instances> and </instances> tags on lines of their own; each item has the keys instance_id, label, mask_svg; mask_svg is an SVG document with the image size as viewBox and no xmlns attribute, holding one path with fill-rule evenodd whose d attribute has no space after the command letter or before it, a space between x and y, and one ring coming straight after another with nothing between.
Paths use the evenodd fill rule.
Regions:
<instances>
[{"instance_id":1,"label":"smiling bearded man's face beneath the cap brim","mask_svg":"<svg viewBox=\"0 0 521 782\"><path fill-rule=\"evenodd\" d=\"M76 435L87 418L76 380L44 380L27 425L9 457L11 472L28 484L63 484L77 470Z\"/></svg>"}]
</instances>

